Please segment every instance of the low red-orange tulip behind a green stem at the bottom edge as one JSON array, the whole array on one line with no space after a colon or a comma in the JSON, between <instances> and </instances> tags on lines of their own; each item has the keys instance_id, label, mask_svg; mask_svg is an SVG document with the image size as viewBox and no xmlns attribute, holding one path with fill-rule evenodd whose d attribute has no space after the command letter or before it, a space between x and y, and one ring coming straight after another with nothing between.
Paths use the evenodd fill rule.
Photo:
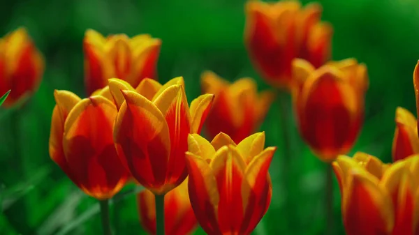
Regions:
<instances>
[{"instance_id":1,"label":"low red-orange tulip behind a green stem at the bottom edge","mask_svg":"<svg viewBox=\"0 0 419 235\"><path fill-rule=\"evenodd\" d=\"M156 234L156 209L151 191L140 192L137 197L140 222L149 234ZM192 234L198 222L188 195L188 179L164 197L164 223L168 235Z\"/></svg>"}]
</instances>

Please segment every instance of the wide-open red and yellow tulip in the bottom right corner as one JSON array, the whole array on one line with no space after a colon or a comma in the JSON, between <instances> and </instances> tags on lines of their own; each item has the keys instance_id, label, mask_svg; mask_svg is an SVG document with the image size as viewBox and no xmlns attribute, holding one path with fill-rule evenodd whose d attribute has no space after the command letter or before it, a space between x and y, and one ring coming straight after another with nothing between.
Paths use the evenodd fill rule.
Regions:
<instances>
[{"instance_id":1,"label":"wide-open red and yellow tulip in the bottom right corner","mask_svg":"<svg viewBox=\"0 0 419 235\"><path fill-rule=\"evenodd\" d=\"M418 234L419 155L384 165L365 153L333 162L348 235Z\"/></svg>"}]
</instances>

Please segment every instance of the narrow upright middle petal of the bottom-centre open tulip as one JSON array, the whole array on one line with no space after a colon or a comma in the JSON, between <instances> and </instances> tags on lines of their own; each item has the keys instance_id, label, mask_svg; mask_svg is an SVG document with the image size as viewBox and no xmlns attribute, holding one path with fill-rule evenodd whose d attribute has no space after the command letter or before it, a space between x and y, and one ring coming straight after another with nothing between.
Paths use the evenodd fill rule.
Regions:
<instances>
[{"instance_id":1,"label":"narrow upright middle petal of the bottom-centre open tulip","mask_svg":"<svg viewBox=\"0 0 419 235\"><path fill-rule=\"evenodd\" d=\"M223 234L240 231L243 219L241 192L246 163L235 146L223 146L210 163L220 195L218 205L219 228Z\"/></svg>"}]
</instances>

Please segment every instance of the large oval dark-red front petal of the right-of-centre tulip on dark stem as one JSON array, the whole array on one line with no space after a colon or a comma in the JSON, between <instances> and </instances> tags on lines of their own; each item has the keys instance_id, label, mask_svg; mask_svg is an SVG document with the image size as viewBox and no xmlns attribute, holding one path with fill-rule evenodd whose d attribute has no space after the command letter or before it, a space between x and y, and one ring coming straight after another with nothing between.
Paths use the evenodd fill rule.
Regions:
<instances>
[{"instance_id":1,"label":"large oval dark-red front petal of the right-of-centre tulip on dark stem","mask_svg":"<svg viewBox=\"0 0 419 235\"><path fill-rule=\"evenodd\" d=\"M343 73L331 66L316 70L304 84L300 131L322 160L335 159L351 148L358 119L358 95ZM353 130L356 128L356 131Z\"/></svg>"}]
</instances>

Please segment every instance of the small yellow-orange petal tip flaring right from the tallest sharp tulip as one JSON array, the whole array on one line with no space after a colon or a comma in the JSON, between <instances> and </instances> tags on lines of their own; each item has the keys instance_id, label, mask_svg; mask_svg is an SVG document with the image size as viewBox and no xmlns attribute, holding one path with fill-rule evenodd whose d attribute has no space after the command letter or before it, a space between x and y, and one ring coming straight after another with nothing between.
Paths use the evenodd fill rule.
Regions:
<instances>
[{"instance_id":1,"label":"small yellow-orange petal tip flaring right from the tallest sharp tulip","mask_svg":"<svg viewBox=\"0 0 419 235\"><path fill-rule=\"evenodd\" d=\"M191 133L200 133L204 121L207 119L207 115L210 112L213 100L214 95L212 94L198 96L198 98L192 100L190 109Z\"/></svg>"}]
</instances>

